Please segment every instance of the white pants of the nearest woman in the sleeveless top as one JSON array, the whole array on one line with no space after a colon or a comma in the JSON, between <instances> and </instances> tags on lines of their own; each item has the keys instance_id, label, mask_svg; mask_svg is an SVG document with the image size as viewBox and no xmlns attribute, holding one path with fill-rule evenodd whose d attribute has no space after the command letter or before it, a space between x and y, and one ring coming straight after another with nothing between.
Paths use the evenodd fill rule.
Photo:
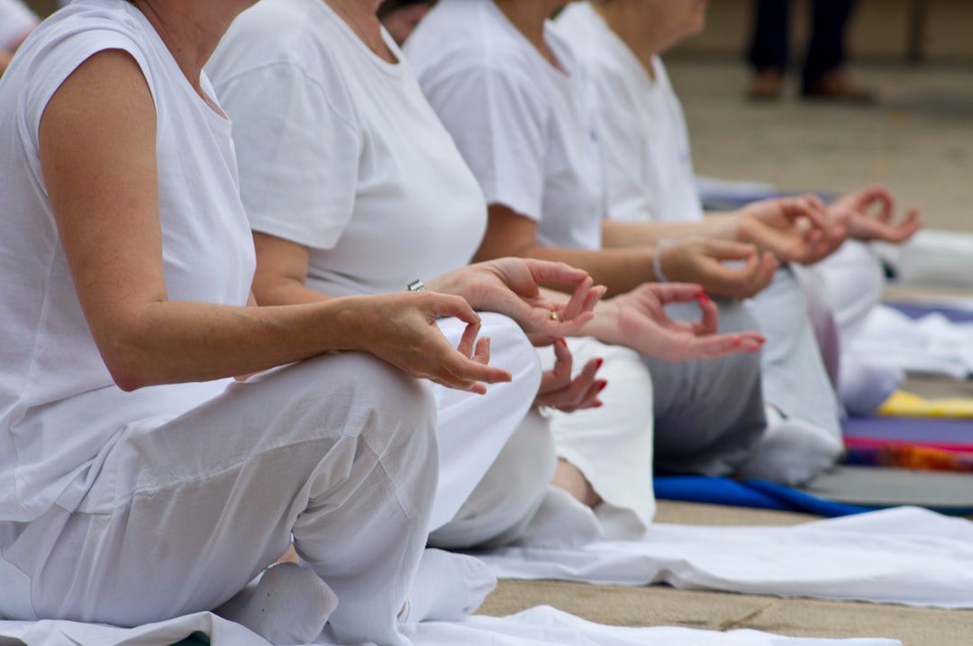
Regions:
<instances>
[{"instance_id":1,"label":"white pants of the nearest woman in the sleeveless top","mask_svg":"<svg viewBox=\"0 0 973 646\"><path fill-rule=\"evenodd\" d=\"M133 425L80 509L0 522L0 613L137 626L209 610L291 541L338 594L343 643L396 618L437 482L429 389L377 359L318 357Z\"/></svg>"}]
</instances>

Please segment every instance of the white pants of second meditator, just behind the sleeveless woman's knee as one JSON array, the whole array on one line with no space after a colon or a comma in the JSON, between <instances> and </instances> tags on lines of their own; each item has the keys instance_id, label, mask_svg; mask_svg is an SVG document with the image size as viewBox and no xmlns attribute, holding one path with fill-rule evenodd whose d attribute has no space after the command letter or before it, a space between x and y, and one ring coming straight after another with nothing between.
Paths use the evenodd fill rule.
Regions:
<instances>
[{"instance_id":1,"label":"white pants of second meditator, just behind the sleeveless woman's knee","mask_svg":"<svg viewBox=\"0 0 973 646\"><path fill-rule=\"evenodd\" d=\"M536 483L552 459L551 450L543 449L545 442L553 442L550 430L527 419L541 380L537 351L513 320L492 313L482 313L481 318L480 334L490 339L490 365L509 371L513 379L489 386L486 395L433 386L440 478L430 526L443 529L438 547L470 548L517 526L523 510L510 504L512 498L543 496L551 480L549 475ZM459 343L461 322L449 318L439 326L453 346ZM511 443L523 446L522 453L505 449ZM492 488L496 486L508 491ZM474 489L478 493L471 501Z\"/></svg>"}]
</instances>

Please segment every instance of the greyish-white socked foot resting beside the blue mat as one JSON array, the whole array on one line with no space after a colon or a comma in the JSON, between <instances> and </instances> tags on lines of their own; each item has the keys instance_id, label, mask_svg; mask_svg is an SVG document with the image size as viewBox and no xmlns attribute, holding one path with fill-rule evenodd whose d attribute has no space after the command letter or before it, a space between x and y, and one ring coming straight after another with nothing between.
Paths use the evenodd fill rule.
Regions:
<instances>
[{"instance_id":1,"label":"greyish-white socked foot resting beside the blue mat","mask_svg":"<svg viewBox=\"0 0 973 646\"><path fill-rule=\"evenodd\" d=\"M738 471L742 478L801 486L830 468L844 450L840 438L813 424L785 419L772 407L767 418L767 430Z\"/></svg>"}]
</instances>

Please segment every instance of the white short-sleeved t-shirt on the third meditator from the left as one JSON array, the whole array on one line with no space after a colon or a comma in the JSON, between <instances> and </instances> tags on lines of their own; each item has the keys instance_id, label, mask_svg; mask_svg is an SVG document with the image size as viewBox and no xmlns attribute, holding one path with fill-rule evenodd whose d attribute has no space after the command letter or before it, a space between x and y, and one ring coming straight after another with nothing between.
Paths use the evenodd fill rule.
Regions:
<instances>
[{"instance_id":1,"label":"white short-sleeved t-shirt on the third meditator from the left","mask_svg":"<svg viewBox=\"0 0 973 646\"><path fill-rule=\"evenodd\" d=\"M543 244L597 249L604 204L584 80L551 24L546 39L565 71L492 0L441 0L406 54L486 201L536 221Z\"/></svg>"}]
</instances>

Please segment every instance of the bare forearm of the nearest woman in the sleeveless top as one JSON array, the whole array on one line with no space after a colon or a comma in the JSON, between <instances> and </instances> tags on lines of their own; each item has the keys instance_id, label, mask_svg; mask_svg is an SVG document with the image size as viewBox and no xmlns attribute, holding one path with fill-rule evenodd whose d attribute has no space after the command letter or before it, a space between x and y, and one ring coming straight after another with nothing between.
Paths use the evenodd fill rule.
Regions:
<instances>
[{"instance_id":1,"label":"bare forearm of the nearest woman in the sleeveless top","mask_svg":"<svg viewBox=\"0 0 973 646\"><path fill-rule=\"evenodd\" d=\"M360 301L361 297L357 300ZM277 307L166 301L133 312L101 347L126 390L258 373L331 350L358 349L352 299ZM356 307L358 311L363 308Z\"/></svg>"}]
</instances>

